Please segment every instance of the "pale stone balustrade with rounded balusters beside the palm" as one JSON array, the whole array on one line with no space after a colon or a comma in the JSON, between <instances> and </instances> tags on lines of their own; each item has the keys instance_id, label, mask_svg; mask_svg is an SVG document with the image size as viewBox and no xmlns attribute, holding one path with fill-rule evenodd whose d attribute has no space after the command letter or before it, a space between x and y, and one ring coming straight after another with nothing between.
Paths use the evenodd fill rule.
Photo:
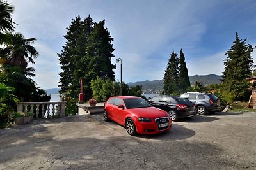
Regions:
<instances>
[{"instance_id":1,"label":"pale stone balustrade with rounded balusters beside the palm","mask_svg":"<svg viewBox=\"0 0 256 170\"><path fill-rule=\"evenodd\" d=\"M50 109L52 105L52 108ZM45 109L46 106L46 109ZM58 106L58 107L56 107ZM49 118L50 115L52 116L65 116L65 101L60 102L19 102L17 103L17 111L21 112L28 112L36 113L35 118ZM41 108L41 109L40 109ZM56 109L57 108L57 109Z\"/></svg>"}]
</instances>

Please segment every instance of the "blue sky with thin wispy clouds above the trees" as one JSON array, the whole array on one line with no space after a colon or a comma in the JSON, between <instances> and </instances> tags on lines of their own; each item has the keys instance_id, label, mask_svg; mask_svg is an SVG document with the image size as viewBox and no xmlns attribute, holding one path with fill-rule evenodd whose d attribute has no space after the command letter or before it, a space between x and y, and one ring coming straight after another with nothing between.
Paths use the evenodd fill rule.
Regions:
<instances>
[{"instance_id":1,"label":"blue sky with thin wispy clouds above the trees","mask_svg":"<svg viewBox=\"0 0 256 170\"><path fill-rule=\"evenodd\" d=\"M236 32L240 39L256 46L256 1L254 0L7 0L15 7L15 32L33 43L39 56L36 64L38 87L58 87L61 72L58 56L72 19L91 15L93 22L106 20L114 38L116 80L125 83L161 80L170 53L182 49L189 76L221 75ZM255 49L256 51L256 49ZM256 52L252 53L253 60ZM256 61L256 60L255 60ZM89 82L84 82L89 83Z\"/></svg>"}]
</instances>

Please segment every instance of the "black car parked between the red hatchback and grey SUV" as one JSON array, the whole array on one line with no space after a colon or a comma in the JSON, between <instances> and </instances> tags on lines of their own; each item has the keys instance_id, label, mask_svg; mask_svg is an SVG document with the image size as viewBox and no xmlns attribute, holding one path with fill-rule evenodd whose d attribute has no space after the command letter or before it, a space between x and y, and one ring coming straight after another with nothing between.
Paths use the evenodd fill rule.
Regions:
<instances>
[{"instance_id":1,"label":"black car parked between the red hatchback and grey SUV","mask_svg":"<svg viewBox=\"0 0 256 170\"><path fill-rule=\"evenodd\" d=\"M152 106L167 111L173 121L196 115L195 104L177 96L155 96L148 101Z\"/></svg>"}]
</instances>

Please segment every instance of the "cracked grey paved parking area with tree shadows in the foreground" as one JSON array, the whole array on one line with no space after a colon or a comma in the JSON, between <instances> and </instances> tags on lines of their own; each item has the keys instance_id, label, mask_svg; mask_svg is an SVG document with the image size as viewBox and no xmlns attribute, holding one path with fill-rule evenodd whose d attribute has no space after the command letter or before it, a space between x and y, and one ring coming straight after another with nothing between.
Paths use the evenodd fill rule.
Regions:
<instances>
[{"instance_id":1,"label":"cracked grey paved parking area with tree shadows in the foreground","mask_svg":"<svg viewBox=\"0 0 256 170\"><path fill-rule=\"evenodd\" d=\"M102 114L33 120L0 129L0 169L256 169L256 113L196 116L136 137Z\"/></svg>"}]
</instances>

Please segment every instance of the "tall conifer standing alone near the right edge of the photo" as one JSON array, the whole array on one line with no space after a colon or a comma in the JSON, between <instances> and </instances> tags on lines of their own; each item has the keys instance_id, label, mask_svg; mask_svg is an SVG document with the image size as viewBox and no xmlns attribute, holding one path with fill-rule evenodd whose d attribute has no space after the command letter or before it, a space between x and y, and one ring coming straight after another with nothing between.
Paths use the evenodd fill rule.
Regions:
<instances>
[{"instance_id":1,"label":"tall conifer standing alone near the right edge of the photo","mask_svg":"<svg viewBox=\"0 0 256 170\"><path fill-rule=\"evenodd\" d=\"M252 45L239 39L236 32L236 40L231 48L225 53L227 59L224 60L225 71L223 71L223 84L227 90L234 94L234 100L243 101L246 99L246 88L248 82L246 78L252 76L253 52Z\"/></svg>"}]
</instances>

